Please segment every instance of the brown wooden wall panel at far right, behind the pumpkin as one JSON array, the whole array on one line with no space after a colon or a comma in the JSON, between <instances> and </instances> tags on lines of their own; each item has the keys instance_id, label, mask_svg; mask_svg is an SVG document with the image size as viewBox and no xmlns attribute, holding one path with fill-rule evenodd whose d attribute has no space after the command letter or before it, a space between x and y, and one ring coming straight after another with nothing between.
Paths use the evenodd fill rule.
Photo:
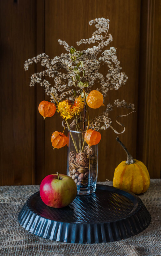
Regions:
<instances>
[{"instance_id":1,"label":"brown wooden wall panel at far right, behind the pumpkin","mask_svg":"<svg viewBox=\"0 0 161 256\"><path fill-rule=\"evenodd\" d=\"M161 1L143 0L138 90L137 157L161 177Z\"/></svg>"}]
</instances>

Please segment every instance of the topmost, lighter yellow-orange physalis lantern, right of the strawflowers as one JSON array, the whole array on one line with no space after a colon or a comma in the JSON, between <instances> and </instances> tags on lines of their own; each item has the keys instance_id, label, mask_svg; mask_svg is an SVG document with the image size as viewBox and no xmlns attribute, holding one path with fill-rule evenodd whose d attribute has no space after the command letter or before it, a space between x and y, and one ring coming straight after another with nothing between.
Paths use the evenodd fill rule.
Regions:
<instances>
[{"instance_id":1,"label":"topmost, lighter yellow-orange physalis lantern, right of the strawflowers","mask_svg":"<svg viewBox=\"0 0 161 256\"><path fill-rule=\"evenodd\" d=\"M86 101L87 101L87 105L90 108L99 108L100 106L104 106L104 104L103 104L103 95L102 95L102 93L100 93L97 90L92 90L88 94L88 96L86 98Z\"/></svg>"}]
</instances>

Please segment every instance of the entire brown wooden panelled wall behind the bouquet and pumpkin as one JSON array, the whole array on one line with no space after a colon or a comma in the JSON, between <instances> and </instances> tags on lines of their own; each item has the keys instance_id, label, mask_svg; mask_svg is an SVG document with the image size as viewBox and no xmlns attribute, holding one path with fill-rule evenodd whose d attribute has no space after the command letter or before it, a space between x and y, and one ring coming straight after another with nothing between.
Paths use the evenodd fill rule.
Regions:
<instances>
[{"instance_id":1,"label":"entire brown wooden panelled wall behind the bouquet and pumpkin","mask_svg":"<svg viewBox=\"0 0 161 256\"><path fill-rule=\"evenodd\" d=\"M61 54L58 39L77 47L75 42L94 30L88 22L100 17L110 19L110 46L117 48L129 77L125 86L109 92L107 102L125 99L136 108L120 119L126 126L120 139L134 158L145 163L151 178L160 178L161 1L0 0L0 16L0 185L40 184L46 175L66 173L67 147L53 151L51 146L51 134L62 130L61 119L56 115L44 121L38 105L49 97L39 85L29 87L31 74L41 66L32 65L26 72L23 65L38 53L46 52L50 58ZM128 112L116 108L111 118ZM115 122L113 127L121 131ZM101 135L98 180L112 180L126 154L111 129Z\"/></svg>"}]
</instances>

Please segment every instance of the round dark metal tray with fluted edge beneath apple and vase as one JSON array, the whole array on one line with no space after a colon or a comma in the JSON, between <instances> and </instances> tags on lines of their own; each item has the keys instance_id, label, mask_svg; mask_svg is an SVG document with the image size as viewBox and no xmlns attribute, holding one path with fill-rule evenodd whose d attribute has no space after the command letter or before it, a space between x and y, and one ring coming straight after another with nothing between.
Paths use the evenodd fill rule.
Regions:
<instances>
[{"instance_id":1,"label":"round dark metal tray with fluted edge beneath apple and vase","mask_svg":"<svg viewBox=\"0 0 161 256\"><path fill-rule=\"evenodd\" d=\"M97 185L96 192L77 196L64 208L46 206L39 191L28 198L18 221L29 232L68 243L102 243L140 233L150 224L150 213L134 194Z\"/></svg>"}]
</instances>

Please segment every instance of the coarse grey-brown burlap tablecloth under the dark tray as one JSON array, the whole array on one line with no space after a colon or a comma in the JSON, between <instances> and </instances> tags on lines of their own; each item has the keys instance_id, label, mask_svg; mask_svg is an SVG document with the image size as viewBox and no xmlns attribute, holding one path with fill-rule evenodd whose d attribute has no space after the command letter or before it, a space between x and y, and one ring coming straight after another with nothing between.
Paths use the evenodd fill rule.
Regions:
<instances>
[{"instance_id":1,"label":"coarse grey-brown burlap tablecloth under the dark tray","mask_svg":"<svg viewBox=\"0 0 161 256\"><path fill-rule=\"evenodd\" d=\"M112 185L112 182L99 182ZM142 233L118 242L67 244L47 240L26 231L18 223L18 213L38 185L0 187L1 256L160 256L161 255L161 180L151 180L150 188L139 196L152 221Z\"/></svg>"}]
</instances>

